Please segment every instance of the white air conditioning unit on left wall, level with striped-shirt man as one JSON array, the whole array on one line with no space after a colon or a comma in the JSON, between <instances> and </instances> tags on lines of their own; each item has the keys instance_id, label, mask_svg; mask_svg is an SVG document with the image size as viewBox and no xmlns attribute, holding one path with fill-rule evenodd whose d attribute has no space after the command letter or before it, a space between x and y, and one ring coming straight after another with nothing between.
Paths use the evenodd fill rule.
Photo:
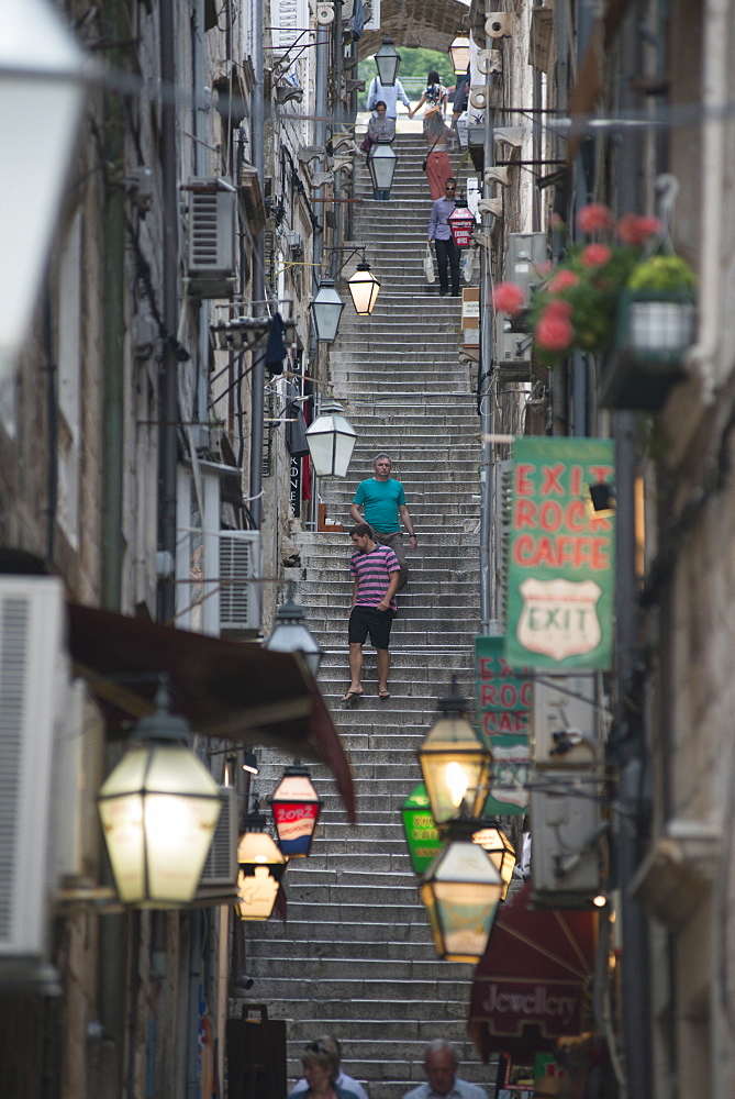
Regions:
<instances>
[{"instance_id":1,"label":"white air conditioning unit on left wall, level with striped-shirt man","mask_svg":"<svg viewBox=\"0 0 735 1099\"><path fill-rule=\"evenodd\" d=\"M220 531L220 633L260 629L260 532Z\"/></svg>"}]
</instances>

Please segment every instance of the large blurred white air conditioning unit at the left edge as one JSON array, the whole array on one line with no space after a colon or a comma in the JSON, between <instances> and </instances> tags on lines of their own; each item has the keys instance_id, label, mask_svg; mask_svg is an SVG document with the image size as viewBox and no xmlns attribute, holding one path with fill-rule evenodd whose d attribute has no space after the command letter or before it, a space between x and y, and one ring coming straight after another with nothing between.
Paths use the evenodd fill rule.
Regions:
<instances>
[{"instance_id":1,"label":"large blurred white air conditioning unit at the left edge","mask_svg":"<svg viewBox=\"0 0 735 1099\"><path fill-rule=\"evenodd\" d=\"M46 952L55 725L68 689L64 587L0 577L0 984ZM20 977L22 979L22 975Z\"/></svg>"}]
</instances>

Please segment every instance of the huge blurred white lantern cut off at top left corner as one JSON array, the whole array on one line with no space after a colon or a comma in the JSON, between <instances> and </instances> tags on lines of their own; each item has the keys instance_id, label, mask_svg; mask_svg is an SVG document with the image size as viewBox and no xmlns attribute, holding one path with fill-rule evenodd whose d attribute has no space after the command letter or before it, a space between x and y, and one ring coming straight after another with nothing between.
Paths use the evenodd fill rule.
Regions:
<instances>
[{"instance_id":1,"label":"huge blurred white lantern cut off at top left corner","mask_svg":"<svg viewBox=\"0 0 735 1099\"><path fill-rule=\"evenodd\" d=\"M46 0L7 0L1 22L0 380L31 322L85 90L83 55Z\"/></svg>"}]
</instances>

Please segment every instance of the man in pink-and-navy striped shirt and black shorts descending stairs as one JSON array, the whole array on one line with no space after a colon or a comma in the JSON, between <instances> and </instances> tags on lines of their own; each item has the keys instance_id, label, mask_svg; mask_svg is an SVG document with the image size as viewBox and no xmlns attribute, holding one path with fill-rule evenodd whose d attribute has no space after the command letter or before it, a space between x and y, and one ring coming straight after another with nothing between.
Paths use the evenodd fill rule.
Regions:
<instances>
[{"instance_id":1,"label":"man in pink-and-navy striped shirt and black shorts descending stairs","mask_svg":"<svg viewBox=\"0 0 735 1099\"><path fill-rule=\"evenodd\" d=\"M388 671L390 654L388 642L396 613L396 589L401 566L390 546L375 541L372 528L357 523L349 532L355 552L349 559L353 578L353 603L349 613L349 675L350 682L342 701L353 703L363 690L363 645L370 635L378 665L378 698L390 698Z\"/></svg>"}]
</instances>

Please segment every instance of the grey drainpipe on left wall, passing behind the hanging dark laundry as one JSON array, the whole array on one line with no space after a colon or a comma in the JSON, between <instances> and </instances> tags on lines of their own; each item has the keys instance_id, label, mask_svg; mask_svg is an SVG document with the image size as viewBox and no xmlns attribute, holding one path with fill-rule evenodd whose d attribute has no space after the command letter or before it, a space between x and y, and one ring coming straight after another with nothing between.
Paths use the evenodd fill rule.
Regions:
<instances>
[{"instance_id":1,"label":"grey drainpipe on left wall, passing behind the hanging dark laundry","mask_svg":"<svg viewBox=\"0 0 735 1099\"><path fill-rule=\"evenodd\" d=\"M255 69L255 86L250 103L250 147L253 164L260 181L260 190L265 195L265 99L263 86L263 9L259 3L252 7L253 37L252 55ZM266 246L265 234L257 233L253 238L253 299L264 302L266 298ZM258 306L265 311L265 306ZM250 502L249 509L253 522L260 528L263 522L263 419L265 417L265 355L261 352L253 354L253 397L250 415Z\"/></svg>"}]
</instances>

